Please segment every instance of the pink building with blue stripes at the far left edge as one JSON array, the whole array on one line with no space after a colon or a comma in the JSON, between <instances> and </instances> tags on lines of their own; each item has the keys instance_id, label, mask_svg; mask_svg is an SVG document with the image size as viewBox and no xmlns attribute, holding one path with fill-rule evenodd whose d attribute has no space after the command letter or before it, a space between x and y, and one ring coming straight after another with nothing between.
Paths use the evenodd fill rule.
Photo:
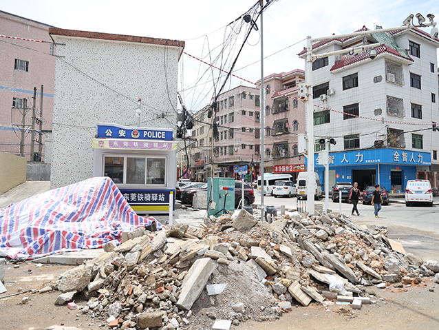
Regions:
<instances>
[{"instance_id":1,"label":"pink building with blue stripes at the far left edge","mask_svg":"<svg viewBox=\"0 0 439 330\"><path fill-rule=\"evenodd\" d=\"M21 154L33 161L30 147L34 136L34 152L39 153L35 159L45 163L50 163L50 148L46 148L45 143L46 134L50 137L52 131L55 74L54 44L49 28L50 25L0 10L0 34L17 38L0 37L0 151ZM35 116L32 114L34 87ZM32 117L36 118L34 135Z\"/></svg>"}]
</instances>

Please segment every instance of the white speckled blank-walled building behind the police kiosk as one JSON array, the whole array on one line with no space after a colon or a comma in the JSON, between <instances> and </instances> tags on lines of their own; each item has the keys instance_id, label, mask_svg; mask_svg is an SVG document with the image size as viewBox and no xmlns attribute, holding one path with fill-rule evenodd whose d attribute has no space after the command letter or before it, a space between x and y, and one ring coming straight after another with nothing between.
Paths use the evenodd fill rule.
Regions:
<instances>
[{"instance_id":1,"label":"white speckled blank-walled building behind the police kiosk","mask_svg":"<svg viewBox=\"0 0 439 330\"><path fill-rule=\"evenodd\" d=\"M56 43L52 188L93 176L97 123L175 129L184 41L50 28ZM175 179L173 180L175 184Z\"/></svg>"}]
</instances>

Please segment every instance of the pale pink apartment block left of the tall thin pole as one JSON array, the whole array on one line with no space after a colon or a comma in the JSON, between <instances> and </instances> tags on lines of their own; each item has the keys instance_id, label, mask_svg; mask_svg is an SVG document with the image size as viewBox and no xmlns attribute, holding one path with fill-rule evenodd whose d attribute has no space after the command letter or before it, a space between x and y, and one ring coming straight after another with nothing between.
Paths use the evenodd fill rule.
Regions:
<instances>
[{"instance_id":1,"label":"pale pink apartment block left of the tall thin pole","mask_svg":"<svg viewBox=\"0 0 439 330\"><path fill-rule=\"evenodd\" d=\"M238 86L218 97L218 135L213 141L215 176L233 178L234 165L248 165L247 181L259 173L259 88Z\"/></svg>"}]
</instances>

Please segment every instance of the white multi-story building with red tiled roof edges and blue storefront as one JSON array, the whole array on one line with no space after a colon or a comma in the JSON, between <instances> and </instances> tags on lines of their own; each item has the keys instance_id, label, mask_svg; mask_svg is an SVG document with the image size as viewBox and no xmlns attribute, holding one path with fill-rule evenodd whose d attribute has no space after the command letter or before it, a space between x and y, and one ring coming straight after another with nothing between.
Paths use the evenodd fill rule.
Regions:
<instances>
[{"instance_id":1,"label":"white multi-story building with red tiled roof edges and blue storefront","mask_svg":"<svg viewBox=\"0 0 439 330\"><path fill-rule=\"evenodd\" d=\"M350 52L377 42L374 59L369 51ZM317 59L306 72L313 77L314 137L336 141L330 188L335 181L356 181L361 189L379 183L403 192L407 180L426 177L437 187L438 46L439 39L418 28L312 45L314 54L350 48ZM306 50L299 56L305 58ZM316 164L316 172L324 182L323 167Z\"/></svg>"}]
</instances>

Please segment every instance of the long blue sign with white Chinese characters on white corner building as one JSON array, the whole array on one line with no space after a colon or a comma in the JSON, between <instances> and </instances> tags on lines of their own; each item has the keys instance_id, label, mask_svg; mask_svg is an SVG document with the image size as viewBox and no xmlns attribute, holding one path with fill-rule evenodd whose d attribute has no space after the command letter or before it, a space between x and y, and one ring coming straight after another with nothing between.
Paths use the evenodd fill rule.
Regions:
<instances>
[{"instance_id":1,"label":"long blue sign with white Chinese characters on white corner building","mask_svg":"<svg viewBox=\"0 0 439 330\"><path fill-rule=\"evenodd\" d=\"M318 165L319 154L314 154L314 162ZM329 165L367 165L367 164L399 164L399 165L431 165L429 152L414 152L402 149L367 149L352 152L333 152L328 156Z\"/></svg>"}]
</instances>

